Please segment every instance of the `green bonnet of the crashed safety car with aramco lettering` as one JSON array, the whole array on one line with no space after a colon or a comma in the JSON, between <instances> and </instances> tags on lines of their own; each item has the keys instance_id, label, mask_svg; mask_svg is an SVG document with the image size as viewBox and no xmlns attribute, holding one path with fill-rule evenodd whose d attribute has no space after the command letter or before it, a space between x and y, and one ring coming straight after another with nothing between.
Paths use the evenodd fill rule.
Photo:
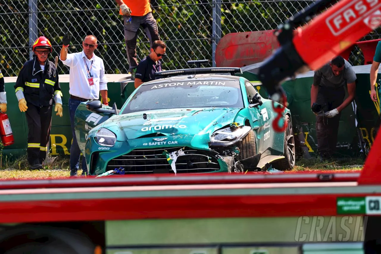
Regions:
<instances>
[{"instance_id":1,"label":"green bonnet of the crashed safety car with aramco lettering","mask_svg":"<svg viewBox=\"0 0 381 254\"><path fill-rule=\"evenodd\" d=\"M117 115L104 122L112 130L115 123L127 139L145 137L152 133L168 135L210 135L217 129L233 123L237 108L165 109ZM144 119L146 118L146 119Z\"/></svg>"}]
</instances>

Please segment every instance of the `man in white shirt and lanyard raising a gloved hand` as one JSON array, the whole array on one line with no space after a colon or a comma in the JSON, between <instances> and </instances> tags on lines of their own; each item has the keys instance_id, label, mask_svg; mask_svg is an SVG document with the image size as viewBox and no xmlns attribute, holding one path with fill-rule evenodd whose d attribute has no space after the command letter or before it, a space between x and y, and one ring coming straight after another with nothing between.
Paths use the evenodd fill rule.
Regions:
<instances>
[{"instance_id":1,"label":"man in white shirt and lanyard raising a gloved hand","mask_svg":"<svg viewBox=\"0 0 381 254\"><path fill-rule=\"evenodd\" d=\"M107 101L107 78L105 76L103 60L94 54L98 47L97 38L87 35L82 42L83 51L67 54L70 43L68 33L62 38L62 49L59 58L62 63L70 67L69 74L69 112L73 134L73 143L70 147L70 176L77 176L81 151L78 147L74 131L74 114L81 102L98 100L101 93L103 104ZM82 175L88 174L86 159L82 158Z\"/></svg>"}]
</instances>

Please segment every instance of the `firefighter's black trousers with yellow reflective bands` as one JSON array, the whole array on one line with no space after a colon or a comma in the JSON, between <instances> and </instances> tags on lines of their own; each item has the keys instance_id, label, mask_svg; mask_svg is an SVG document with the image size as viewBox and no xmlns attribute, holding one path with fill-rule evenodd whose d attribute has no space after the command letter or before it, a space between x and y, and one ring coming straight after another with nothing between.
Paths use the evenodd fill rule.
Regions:
<instances>
[{"instance_id":1,"label":"firefighter's black trousers with yellow reflective bands","mask_svg":"<svg viewBox=\"0 0 381 254\"><path fill-rule=\"evenodd\" d=\"M53 105L36 107L27 103L27 107L26 120L29 129L27 157L29 165L33 166L42 164L46 158Z\"/></svg>"}]
</instances>

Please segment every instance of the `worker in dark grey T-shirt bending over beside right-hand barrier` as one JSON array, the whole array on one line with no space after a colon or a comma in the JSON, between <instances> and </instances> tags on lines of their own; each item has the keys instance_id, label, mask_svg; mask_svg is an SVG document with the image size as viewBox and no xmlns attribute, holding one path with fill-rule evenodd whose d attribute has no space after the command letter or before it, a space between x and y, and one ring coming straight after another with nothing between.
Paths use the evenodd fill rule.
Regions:
<instances>
[{"instance_id":1,"label":"worker in dark grey T-shirt bending over beside right-hand barrier","mask_svg":"<svg viewBox=\"0 0 381 254\"><path fill-rule=\"evenodd\" d=\"M355 96L356 73L341 56L332 59L315 71L311 87L311 108L322 105L323 115L316 115L317 153L321 159L330 159L336 149L341 111ZM344 100L347 85L348 97Z\"/></svg>"}]
</instances>

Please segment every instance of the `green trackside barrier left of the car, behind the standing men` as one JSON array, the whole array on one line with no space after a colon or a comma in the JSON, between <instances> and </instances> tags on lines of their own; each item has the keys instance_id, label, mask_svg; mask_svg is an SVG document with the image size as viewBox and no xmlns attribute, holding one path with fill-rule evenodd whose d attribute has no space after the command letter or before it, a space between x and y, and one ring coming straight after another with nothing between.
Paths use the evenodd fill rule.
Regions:
<instances>
[{"instance_id":1,"label":"green trackside barrier left of the car, behind the standing men","mask_svg":"<svg viewBox=\"0 0 381 254\"><path fill-rule=\"evenodd\" d=\"M130 79L130 74L107 74L107 87L109 105L114 102L120 109L126 101L126 94L134 91L134 83ZM4 157L17 158L26 154L28 126L25 113L20 112L16 94L14 93L14 85L17 77L5 77L5 91L7 99L7 115L11 123L13 131L14 144L3 147L0 151ZM69 117L69 75L59 75L59 83L62 89L62 117L56 116L53 107L53 117L50 132L50 155L70 155L70 146L72 144L72 133L70 128ZM99 96L100 97L100 96ZM4 160L4 159L3 159Z\"/></svg>"}]
</instances>

